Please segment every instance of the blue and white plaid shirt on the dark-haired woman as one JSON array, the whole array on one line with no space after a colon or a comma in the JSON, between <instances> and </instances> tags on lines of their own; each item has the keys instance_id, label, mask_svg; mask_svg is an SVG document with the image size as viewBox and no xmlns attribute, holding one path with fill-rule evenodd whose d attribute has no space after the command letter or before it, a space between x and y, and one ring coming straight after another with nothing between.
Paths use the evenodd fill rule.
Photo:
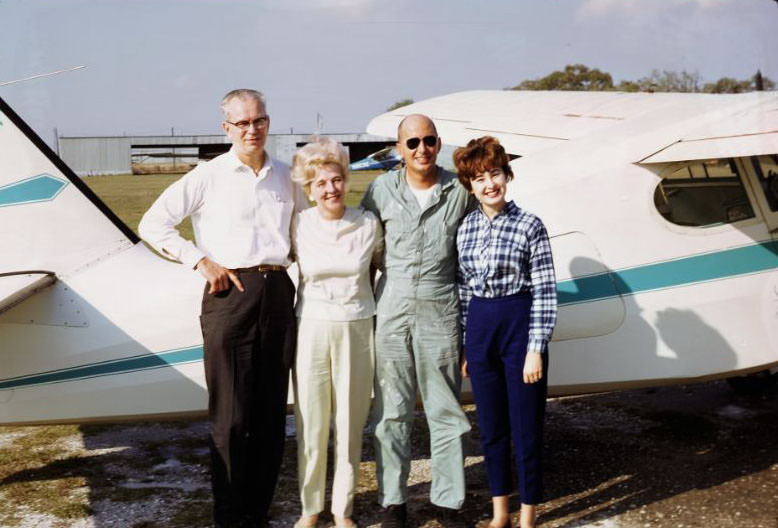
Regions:
<instances>
[{"instance_id":1,"label":"blue and white plaid shirt on the dark-haired woman","mask_svg":"<svg viewBox=\"0 0 778 528\"><path fill-rule=\"evenodd\" d=\"M532 294L527 352L542 353L556 324L556 278L543 222L509 201L490 221L480 208L457 230L462 328L472 297Z\"/></svg>"}]
</instances>

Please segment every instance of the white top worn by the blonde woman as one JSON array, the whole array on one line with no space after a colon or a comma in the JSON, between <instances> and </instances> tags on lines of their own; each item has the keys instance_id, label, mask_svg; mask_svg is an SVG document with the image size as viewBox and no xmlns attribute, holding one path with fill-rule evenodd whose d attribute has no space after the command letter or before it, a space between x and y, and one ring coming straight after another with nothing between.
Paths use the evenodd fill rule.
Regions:
<instances>
[{"instance_id":1,"label":"white top worn by the blonde woman","mask_svg":"<svg viewBox=\"0 0 778 528\"><path fill-rule=\"evenodd\" d=\"M383 230L369 211L347 207L325 220L316 207L294 217L292 249L300 267L298 318L354 321L375 315L370 264L378 265Z\"/></svg>"}]
</instances>

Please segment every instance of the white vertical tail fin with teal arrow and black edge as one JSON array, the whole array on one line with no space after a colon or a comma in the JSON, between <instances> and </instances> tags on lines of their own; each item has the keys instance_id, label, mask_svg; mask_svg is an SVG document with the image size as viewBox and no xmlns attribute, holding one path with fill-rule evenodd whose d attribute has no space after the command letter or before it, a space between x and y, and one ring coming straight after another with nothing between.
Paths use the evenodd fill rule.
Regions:
<instances>
[{"instance_id":1,"label":"white vertical tail fin with teal arrow and black edge","mask_svg":"<svg viewBox=\"0 0 778 528\"><path fill-rule=\"evenodd\" d=\"M0 99L0 312L138 237Z\"/></svg>"}]
</instances>

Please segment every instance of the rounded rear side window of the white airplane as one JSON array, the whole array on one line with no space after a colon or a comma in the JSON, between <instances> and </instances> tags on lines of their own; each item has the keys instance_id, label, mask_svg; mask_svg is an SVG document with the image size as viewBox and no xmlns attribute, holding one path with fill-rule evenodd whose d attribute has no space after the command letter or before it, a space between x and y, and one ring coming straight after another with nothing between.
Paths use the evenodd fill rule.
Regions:
<instances>
[{"instance_id":1,"label":"rounded rear side window of the white airplane","mask_svg":"<svg viewBox=\"0 0 778 528\"><path fill-rule=\"evenodd\" d=\"M677 169L657 186L654 205L667 221L684 226L712 227L754 217L732 159L695 161Z\"/></svg>"}]
</instances>

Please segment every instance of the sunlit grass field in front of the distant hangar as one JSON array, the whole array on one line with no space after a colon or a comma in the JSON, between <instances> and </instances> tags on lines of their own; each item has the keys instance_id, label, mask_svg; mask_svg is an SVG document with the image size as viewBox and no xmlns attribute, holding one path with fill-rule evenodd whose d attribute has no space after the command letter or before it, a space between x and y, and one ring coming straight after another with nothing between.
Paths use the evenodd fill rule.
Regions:
<instances>
[{"instance_id":1,"label":"sunlit grass field in front of the distant hangar","mask_svg":"<svg viewBox=\"0 0 778 528\"><path fill-rule=\"evenodd\" d=\"M368 184L380 173L381 171L353 173L346 204L359 204ZM137 233L143 213L163 190L179 178L180 174L120 174L88 176L84 178L84 182ZM189 219L185 220L179 229L185 238L192 239L192 224Z\"/></svg>"}]
</instances>

